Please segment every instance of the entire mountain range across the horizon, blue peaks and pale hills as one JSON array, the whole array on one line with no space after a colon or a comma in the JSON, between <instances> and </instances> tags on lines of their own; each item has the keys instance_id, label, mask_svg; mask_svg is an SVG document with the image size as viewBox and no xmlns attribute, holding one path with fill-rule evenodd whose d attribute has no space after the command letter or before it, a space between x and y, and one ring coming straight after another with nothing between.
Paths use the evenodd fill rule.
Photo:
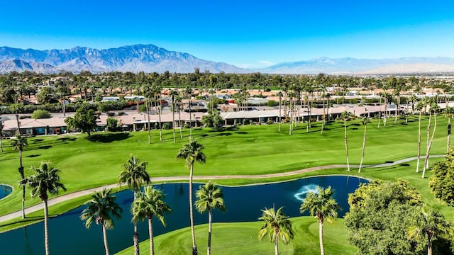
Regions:
<instances>
[{"instance_id":1,"label":"entire mountain range across the horizon, blue peaks and pale hills","mask_svg":"<svg viewBox=\"0 0 454 255\"><path fill-rule=\"evenodd\" d=\"M223 62L201 60L193 55L165 50L156 45L131 45L106 50L74 47L66 50L33 50L0 47L0 74L31 71L37 73L100 72L201 72L269 74L428 74L454 73L454 58L406 57L362 60L352 57L319 57L284 62L264 69L242 69Z\"/></svg>"}]
</instances>

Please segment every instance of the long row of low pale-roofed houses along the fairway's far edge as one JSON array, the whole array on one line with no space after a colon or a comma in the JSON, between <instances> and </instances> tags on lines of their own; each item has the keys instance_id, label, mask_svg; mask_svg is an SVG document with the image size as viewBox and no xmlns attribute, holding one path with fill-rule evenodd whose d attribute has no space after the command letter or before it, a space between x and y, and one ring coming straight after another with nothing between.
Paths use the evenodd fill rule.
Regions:
<instances>
[{"instance_id":1,"label":"long row of low pale-roofed houses along the fairway's far edge","mask_svg":"<svg viewBox=\"0 0 454 255\"><path fill-rule=\"evenodd\" d=\"M343 111L348 111L351 114L362 117L369 116L370 118L375 117L378 114L384 113L384 106L341 106L333 107L328 109L323 108L311 108L308 111L307 108L299 108L299 110L286 111L284 108L263 110L263 111L235 111L235 112L222 112L221 117L224 120L224 125L237 125L241 123L267 123L270 120L272 122L279 122L284 118L293 118L294 120L304 121L311 118L312 120L321 120L323 115L328 114L330 118L338 118ZM327 113L326 113L327 111ZM397 110L393 105L387 107L387 114L393 115L396 111L403 111L402 109ZM192 125L193 127L201 126L201 119L206 113L193 112L193 113L164 113L160 116L157 114L148 115L145 113L126 113L121 116L114 116L118 120L119 128L123 131L139 131L147 130L148 125L150 128L159 128L159 123L172 128L182 128L184 125ZM21 135L59 135L68 132L65 118L74 115L69 113L65 117L55 116L46 119L31 119L21 118L19 120ZM97 120L96 131L106 130L107 126L107 115L100 115ZM175 120L174 120L175 119ZM18 129L18 123L14 115L0 117L0 122L3 125L3 135L11 137L16 135Z\"/></svg>"}]
</instances>

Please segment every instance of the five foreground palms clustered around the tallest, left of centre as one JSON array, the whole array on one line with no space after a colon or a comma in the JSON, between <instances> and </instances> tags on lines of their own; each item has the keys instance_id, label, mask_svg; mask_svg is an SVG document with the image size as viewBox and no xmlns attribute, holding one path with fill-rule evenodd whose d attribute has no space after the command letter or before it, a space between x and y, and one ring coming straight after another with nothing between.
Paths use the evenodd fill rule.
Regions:
<instances>
[{"instance_id":1,"label":"five foreground palms clustered around the tallest, left of centre","mask_svg":"<svg viewBox=\"0 0 454 255\"><path fill-rule=\"evenodd\" d=\"M189 168L189 216L192 231L192 254L197 254L196 239L194 233L194 220L192 202L192 175L194 171L194 162L203 163L206 160L203 145L195 140L189 140L189 143L184 145L177 154L177 159L184 159L186 166ZM139 221L148 220L148 234L150 239L150 254L154 254L153 242L153 218L157 218L162 225L165 223L165 213L171 212L171 208L164 202L165 194L159 189L154 188L150 184L150 176L146 171L147 162L140 162L140 160L131 155L128 162L123 164L123 171L121 171L118 182L126 185L133 191L134 199L131 204L131 213L133 215L132 222L134 225L133 242L134 254L140 254L139 241L138 241L138 227ZM145 187L143 187L145 184ZM205 185L200 186L196 191L195 208L199 212L208 212L209 215L209 236L207 254L211 254L211 224L212 224L212 211L226 210L223 202L223 193L221 188L216 186L213 181L207 182ZM101 192L94 193L91 200L88 200L87 208L82 211L81 219L85 220L86 227L90 227L92 222L101 225L103 229L104 248L106 254L109 254L109 246L106 239L106 229L114 227L114 217L121 217L121 208L115 203L115 196L111 194L111 190L105 189Z\"/></svg>"}]
</instances>

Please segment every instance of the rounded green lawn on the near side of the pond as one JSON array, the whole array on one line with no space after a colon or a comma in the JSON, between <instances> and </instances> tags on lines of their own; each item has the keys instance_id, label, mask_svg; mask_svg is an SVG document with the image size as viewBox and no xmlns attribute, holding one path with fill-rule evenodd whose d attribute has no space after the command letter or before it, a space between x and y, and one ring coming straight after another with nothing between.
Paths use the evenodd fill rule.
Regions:
<instances>
[{"instance_id":1,"label":"rounded green lawn on the near side of the pond","mask_svg":"<svg viewBox=\"0 0 454 255\"><path fill-rule=\"evenodd\" d=\"M279 243L279 254L319 254L319 224L314 217L292 218L294 239L288 245ZM257 238L261 222L215 223L211 237L212 254L275 254L275 246L268 237ZM325 254L355 254L355 246L347 244L343 220L324 225ZM195 227L199 254L206 254L208 225ZM150 242L140 243L140 251L150 249ZM191 229L186 227L155 237L155 254L191 254ZM129 247L118 254L133 254Z\"/></svg>"}]
</instances>

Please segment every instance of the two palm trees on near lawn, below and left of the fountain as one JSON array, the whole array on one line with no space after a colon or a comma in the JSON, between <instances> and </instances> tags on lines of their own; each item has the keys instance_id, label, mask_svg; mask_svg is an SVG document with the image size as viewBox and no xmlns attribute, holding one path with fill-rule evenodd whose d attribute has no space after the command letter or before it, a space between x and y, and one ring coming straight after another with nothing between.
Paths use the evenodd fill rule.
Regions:
<instances>
[{"instance_id":1,"label":"two palm trees on near lawn, below and left of the fountain","mask_svg":"<svg viewBox=\"0 0 454 255\"><path fill-rule=\"evenodd\" d=\"M331 187L322 188L317 187L316 192L309 192L301 203L299 208L301 213L309 211L311 216L316 217L319 222L319 241L320 241L320 253L325 254L323 246L323 223L333 223L338 217L338 210L340 206L333 198L334 191ZM270 208L262 210L262 216L258 220L263 221L264 225L258 232L258 239L261 240L265 235L268 234L270 241L275 244L275 255L279 254L279 241L284 244L288 244L291 239L294 238L294 232L292 229L292 222L289 217L284 215L282 207L275 210Z\"/></svg>"}]
</instances>

